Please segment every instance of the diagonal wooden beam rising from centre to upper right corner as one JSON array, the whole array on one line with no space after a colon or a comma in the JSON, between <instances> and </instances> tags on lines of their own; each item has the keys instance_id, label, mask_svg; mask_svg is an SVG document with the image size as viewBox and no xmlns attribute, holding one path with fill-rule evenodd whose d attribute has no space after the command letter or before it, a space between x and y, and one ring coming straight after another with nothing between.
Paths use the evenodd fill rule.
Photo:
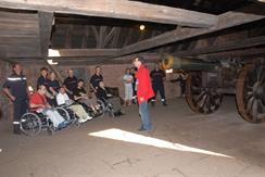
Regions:
<instances>
[{"instance_id":1,"label":"diagonal wooden beam rising from centre to upper right corner","mask_svg":"<svg viewBox=\"0 0 265 177\"><path fill-rule=\"evenodd\" d=\"M261 14L255 14L256 12ZM249 5L238 11L227 12L218 15L218 23L209 29L201 28L177 28L164 33L150 39L142 40L124 47L119 55L126 55L135 52L146 51L164 45L186 40L189 38L207 35L211 33L227 29L234 26L255 22L265 17L264 7Z\"/></svg>"}]
</instances>

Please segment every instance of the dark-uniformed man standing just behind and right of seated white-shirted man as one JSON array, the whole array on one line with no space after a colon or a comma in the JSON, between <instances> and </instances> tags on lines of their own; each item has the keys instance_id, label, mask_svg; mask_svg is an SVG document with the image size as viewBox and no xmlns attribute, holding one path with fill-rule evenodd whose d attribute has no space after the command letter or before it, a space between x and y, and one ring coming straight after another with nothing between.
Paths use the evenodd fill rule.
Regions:
<instances>
[{"instance_id":1,"label":"dark-uniformed man standing just behind and right of seated white-shirted man","mask_svg":"<svg viewBox=\"0 0 265 177\"><path fill-rule=\"evenodd\" d=\"M66 89L68 97L73 100L74 96L73 92L77 87L78 79L74 76L74 71L68 71L68 77L64 79L63 85Z\"/></svg>"}]
</instances>

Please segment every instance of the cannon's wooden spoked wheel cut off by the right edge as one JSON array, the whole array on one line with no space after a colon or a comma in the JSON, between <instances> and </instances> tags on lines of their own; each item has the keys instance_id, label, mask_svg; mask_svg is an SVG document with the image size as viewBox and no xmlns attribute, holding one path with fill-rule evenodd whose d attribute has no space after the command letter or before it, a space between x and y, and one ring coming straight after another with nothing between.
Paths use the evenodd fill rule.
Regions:
<instances>
[{"instance_id":1,"label":"cannon's wooden spoked wheel cut off by the right edge","mask_svg":"<svg viewBox=\"0 0 265 177\"><path fill-rule=\"evenodd\" d=\"M265 122L265 65L249 64L237 81L238 112L250 123Z\"/></svg>"}]
</instances>

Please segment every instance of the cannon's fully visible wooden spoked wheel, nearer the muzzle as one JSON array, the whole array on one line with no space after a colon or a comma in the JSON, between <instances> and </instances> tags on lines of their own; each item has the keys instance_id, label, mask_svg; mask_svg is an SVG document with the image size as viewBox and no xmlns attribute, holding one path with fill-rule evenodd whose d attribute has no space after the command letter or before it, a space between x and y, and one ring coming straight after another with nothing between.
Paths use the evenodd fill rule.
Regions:
<instances>
[{"instance_id":1,"label":"cannon's fully visible wooden spoked wheel, nearer the muzzle","mask_svg":"<svg viewBox=\"0 0 265 177\"><path fill-rule=\"evenodd\" d=\"M216 87L202 86L202 73L190 73L186 80L186 101L192 111L210 114L218 110L223 93Z\"/></svg>"}]
</instances>

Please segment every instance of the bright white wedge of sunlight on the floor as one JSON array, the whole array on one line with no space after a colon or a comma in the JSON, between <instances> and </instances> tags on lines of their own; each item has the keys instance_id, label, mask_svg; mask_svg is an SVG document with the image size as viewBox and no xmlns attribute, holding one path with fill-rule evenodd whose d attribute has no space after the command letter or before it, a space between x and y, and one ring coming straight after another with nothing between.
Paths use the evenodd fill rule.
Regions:
<instances>
[{"instance_id":1,"label":"bright white wedge of sunlight on the floor","mask_svg":"<svg viewBox=\"0 0 265 177\"><path fill-rule=\"evenodd\" d=\"M176 150L176 151L202 153L202 154L207 154L207 155L234 159L232 156L229 156L229 155L225 155L225 154L220 154L220 153L216 153L216 152L212 152L212 151L206 151L206 150L202 150L202 149L198 149L198 148L192 148L192 147L184 146L180 143L173 143L169 141L151 138L151 137L147 137L147 136L142 136L142 135L137 135L134 132L129 132L129 131L125 131L125 130L116 129L116 128L111 128L111 129L97 131L97 132L90 132L88 135L93 136L93 137L109 138L109 139L121 140L121 141L126 141L126 142L152 146L152 147L156 147L156 148L171 149L171 150Z\"/></svg>"}]
</instances>

